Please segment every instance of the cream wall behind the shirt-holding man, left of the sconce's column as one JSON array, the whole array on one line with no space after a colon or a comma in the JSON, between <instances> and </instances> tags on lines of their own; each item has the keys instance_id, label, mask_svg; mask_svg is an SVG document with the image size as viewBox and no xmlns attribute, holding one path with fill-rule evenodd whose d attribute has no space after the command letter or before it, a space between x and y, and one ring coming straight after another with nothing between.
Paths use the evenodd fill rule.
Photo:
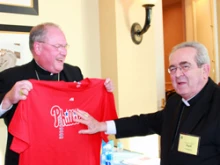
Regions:
<instances>
[{"instance_id":1,"label":"cream wall behind the shirt-holding man, left of the sconce's column","mask_svg":"<svg viewBox=\"0 0 220 165\"><path fill-rule=\"evenodd\" d=\"M34 26L42 22L57 23L65 32L70 45L66 62L78 65L84 77L101 77L98 0L38 2L39 16L0 13L0 24ZM0 165L3 165L5 132L1 120Z\"/></svg>"}]
</instances>

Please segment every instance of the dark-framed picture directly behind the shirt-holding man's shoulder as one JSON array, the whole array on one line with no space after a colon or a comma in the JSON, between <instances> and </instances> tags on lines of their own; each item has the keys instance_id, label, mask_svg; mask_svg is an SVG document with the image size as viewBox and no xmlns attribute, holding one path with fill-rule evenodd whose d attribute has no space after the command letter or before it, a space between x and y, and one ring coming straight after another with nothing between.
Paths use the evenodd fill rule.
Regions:
<instances>
[{"instance_id":1,"label":"dark-framed picture directly behind the shirt-holding man's shoulder","mask_svg":"<svg viewBox=\"0 0 220 165\"><path fill-rule=\"evenodd\" d=\"M0 72L33 59L29 49L31 28L0 24Z\"/></svg>"}]
</instances>

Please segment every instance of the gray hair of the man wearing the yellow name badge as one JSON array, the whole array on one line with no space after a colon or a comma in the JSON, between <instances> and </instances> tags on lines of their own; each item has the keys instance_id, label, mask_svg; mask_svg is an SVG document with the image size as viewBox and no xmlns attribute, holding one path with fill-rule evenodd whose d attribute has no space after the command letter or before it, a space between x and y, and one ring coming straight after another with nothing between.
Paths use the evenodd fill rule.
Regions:
<instances>
[{"instance_id":1,"label":"gray hair of the man wearing the yellow name badge","mask_svg":"<svg viewBox=\"0 0 220 165\"><path fill-rule=\"evenodd\" d=\"M185 48L185 47L192 47L192 48L196 49L197 53L196 53L196 56L195 56L195 62L196 62L198 67L201 67L203 64L209 64L210 65L210 58L209 58L207 48L203 44L201 44L199 42L195 42L195 41L183 42L183 43L180 43L180 44L176 45L175 47L173 47L169 58L172 56L172 54L176 50L178 50L180 48Z\"/></svg>"}]
</instances>

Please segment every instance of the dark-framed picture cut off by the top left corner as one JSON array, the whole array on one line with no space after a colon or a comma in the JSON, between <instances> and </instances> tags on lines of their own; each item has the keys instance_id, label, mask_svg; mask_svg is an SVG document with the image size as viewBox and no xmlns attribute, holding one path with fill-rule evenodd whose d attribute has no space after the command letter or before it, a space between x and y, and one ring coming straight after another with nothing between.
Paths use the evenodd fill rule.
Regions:
<instances>
[{"instance_id":1,"label":"dark-framed picture cut off by the top left corner","mask_svg":"<svg viewBox=\"0 0 220 165\"><path fill-rule=\"evenodd\" d=\"M38 15L38 0L0 0L0 12Z\"/></svg>"}]
</instances>

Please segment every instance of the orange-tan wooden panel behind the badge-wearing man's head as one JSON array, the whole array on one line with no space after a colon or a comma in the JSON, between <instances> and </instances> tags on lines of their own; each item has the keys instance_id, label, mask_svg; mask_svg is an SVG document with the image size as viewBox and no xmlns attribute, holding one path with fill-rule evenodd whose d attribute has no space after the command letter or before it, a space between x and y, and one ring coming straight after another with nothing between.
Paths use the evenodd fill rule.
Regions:
<instances>
[{"instance_id":1,"label":"orange-tan wooden panel behind the badge-wearing man's head","mask_svg":"<svg viewBox=\"0 0 220 165\"><path fill-rule=\"evenodd\" d=\"M218 6L219 0L185 0L186 40L199 41L207 47L211 59L210 77L216 83L220 73Z\"/></svg>"}]
</instances>

